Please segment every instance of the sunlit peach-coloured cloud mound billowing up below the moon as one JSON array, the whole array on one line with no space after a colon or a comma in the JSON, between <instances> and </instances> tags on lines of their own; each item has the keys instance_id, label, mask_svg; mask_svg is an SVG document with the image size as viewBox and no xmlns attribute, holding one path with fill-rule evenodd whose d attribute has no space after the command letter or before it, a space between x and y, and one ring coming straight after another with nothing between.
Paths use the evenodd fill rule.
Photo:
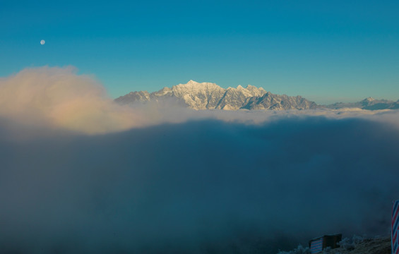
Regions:
<instances>
[{"instance_id":1,"label":"sunlit peach-coloured cloud mound billowing up below the moon","mask_svg":"<svg viewBox=\"0 0 399 254\"><path fill-rule=\"evenodd\" d=\"M37 128L108 133L139 126L140 116L114 104L104 88L74 68L28 68L0 79L0 116Z\"/></svg>"}]
</instances>

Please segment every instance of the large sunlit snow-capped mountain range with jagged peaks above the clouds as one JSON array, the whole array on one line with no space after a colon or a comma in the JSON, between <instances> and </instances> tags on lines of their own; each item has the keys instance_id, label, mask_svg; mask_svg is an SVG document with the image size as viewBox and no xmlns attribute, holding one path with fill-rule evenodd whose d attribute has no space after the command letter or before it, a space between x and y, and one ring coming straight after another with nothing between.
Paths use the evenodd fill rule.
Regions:
<instances>
[{"instance_id":1,"label":"large sunlit snow-capped mountain range with jagged peaks above the clouds","mask_svg":"<svg viewBox=\"0 0 399 254\"><path fill-rule=\"evenodd\" d=\"M237 88L222 88L215 83L197 83L190 80L186 84L164 87L157 92L129 92L115 101L119 104L139 104L146 102L176 102L191 109L316 109L316 103L301 96L274 95L262 87L239 85Z\"/></svg>"}]
</instances>

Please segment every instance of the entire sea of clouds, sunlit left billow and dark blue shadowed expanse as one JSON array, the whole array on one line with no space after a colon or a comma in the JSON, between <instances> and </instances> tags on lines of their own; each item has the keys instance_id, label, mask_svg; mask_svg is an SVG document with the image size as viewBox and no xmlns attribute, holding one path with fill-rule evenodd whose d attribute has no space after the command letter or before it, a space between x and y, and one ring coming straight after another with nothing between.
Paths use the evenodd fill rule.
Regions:
<instances>
[{"instance_id":1,"label":"entire sea of clouds, sunlit left billow and dark blue shadowed expanse","mask_svg":"<svg viewBox=\"0 0 399 254\"><path fill-rule=\"evenodd\" d=\"M277 253L386 235L398 111L123 107L74 68L0 79L0 253Z\"/></svg>"}]
</instances>

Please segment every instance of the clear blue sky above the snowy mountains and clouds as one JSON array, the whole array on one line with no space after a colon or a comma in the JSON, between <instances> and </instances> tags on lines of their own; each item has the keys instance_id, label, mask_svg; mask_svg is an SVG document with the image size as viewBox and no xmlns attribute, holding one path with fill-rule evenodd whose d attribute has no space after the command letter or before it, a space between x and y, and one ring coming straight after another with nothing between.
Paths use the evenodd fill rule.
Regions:
<instances>
[{"instance_id":1,"label":"clear blue sky above the snowy mountains and clouds","mask_svg":"<svg viewBox=\"0 0 399 254\"><path fill-rule=\"evenodd\" d=\"M72 65L112 97L192 79L397 100L398 13L399 1L2 1L0 76Z\"/></svg>"}]
</instances>

